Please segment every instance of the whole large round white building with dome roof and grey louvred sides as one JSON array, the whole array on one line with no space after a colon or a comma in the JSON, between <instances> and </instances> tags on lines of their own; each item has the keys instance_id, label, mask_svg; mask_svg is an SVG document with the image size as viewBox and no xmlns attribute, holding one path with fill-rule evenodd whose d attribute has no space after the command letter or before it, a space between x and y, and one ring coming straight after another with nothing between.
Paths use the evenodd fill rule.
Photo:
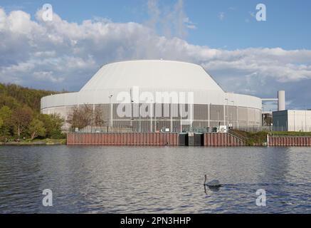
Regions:
<instances>
[{"instance_id":1,"label":"whole large round white building with dome roof and grey louvred sides","mask_svg":"<svg viewBox=\"0 0 311 228\"><path fill-rule=\"evenodd\" d=\"M181 132L227 125L243 129L261 127L262 102L251 95L226 93L196 64L144 60L102 66L79 92L42 98L41 113L59 113L66 119L74 107L88 105L102 110L104 128Z\"/></svg>"}]
</instances>

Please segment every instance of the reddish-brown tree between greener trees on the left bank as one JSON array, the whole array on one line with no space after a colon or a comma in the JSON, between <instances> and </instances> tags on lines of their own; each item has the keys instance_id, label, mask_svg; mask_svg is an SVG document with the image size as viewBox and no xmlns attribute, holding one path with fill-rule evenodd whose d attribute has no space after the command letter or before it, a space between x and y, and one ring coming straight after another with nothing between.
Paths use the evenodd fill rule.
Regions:
<instances>
[{"instance_id":1,"label":"reddish-brown tree between greener trees on the left bank","mask_svg":"<svg viewBox=\"0 0 311 228\"><path fill-rule=\"evenodd\" d=\"M23 108L16 108L13 110L11 123L14 127L15 133L18 139L21 138L21 134L26 132L31 120L33 119L33 112L31 108L23 106Z\"/></svg>"}]
</instances>

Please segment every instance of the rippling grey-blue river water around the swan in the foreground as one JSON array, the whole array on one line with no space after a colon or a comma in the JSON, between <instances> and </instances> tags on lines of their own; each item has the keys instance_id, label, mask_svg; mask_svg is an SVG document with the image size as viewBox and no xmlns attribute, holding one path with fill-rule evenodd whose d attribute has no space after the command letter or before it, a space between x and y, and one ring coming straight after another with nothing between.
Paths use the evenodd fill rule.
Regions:
<instances>
[{"instance_id":1,"label":"rippling grey-blue river water around the swan in the foreground","mask_svg":"<svg viewBox=\"0 0 311 228\"><path fill-rule=\"evenodd\" d=\"M2 146L0 213L311 213L311 149Z\"/></svg>"}]
</instances>

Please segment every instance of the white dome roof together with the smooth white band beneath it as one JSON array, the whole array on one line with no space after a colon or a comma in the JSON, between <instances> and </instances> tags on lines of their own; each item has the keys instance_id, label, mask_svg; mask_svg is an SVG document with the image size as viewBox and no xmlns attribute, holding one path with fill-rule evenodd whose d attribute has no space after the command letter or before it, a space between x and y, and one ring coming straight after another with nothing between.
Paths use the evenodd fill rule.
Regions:
<instances>
[{"instance_id":1,"label":"white dome roof together with the smooth white band beneath it","mask_svg":"<svg viewBox=\"0 0 311 228\"><path fill-rule=\"evenodd\" d=\"M125 61L102 66L79 92L42 98L41 109L83 104L116 104L121 102L120 99L124 98L125 93L130 94L134 87L138 87L139 94L149 92L155 96L157 92L190 92L193 93L195 104L233 105L259 110L262 106L260 98L225 93L199 65L150 60ZM187 93L187 98L188 95ZM135 100L137 97L133 95L132 98Z\"/></svg>"}]
</instances>

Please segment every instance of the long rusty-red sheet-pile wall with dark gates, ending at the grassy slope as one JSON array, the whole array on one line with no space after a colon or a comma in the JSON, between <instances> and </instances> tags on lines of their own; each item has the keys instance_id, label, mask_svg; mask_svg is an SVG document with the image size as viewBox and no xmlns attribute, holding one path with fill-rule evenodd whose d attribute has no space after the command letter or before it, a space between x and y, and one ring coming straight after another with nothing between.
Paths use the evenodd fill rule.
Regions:
<instances>
[{"instance_id":1,"label":"long rusty-red sheet-pile wall with dark gates, ending at the grassy slope","mask_svg":"<svg viewBox=\"0 0 311 228\"><path fill-rule=\"evenodd\" d=\"M68 133L67 145L105 146L242 146L231 133Z\"/></svg>"}]
</instances>

